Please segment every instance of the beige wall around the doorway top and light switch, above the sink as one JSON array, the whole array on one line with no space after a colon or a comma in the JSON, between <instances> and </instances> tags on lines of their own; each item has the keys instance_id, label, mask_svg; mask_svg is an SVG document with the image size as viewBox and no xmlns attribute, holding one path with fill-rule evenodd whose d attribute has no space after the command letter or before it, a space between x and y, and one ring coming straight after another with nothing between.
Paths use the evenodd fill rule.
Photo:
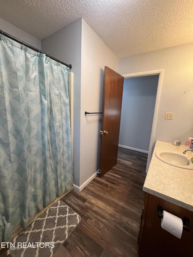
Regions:
<instances>
[{"instance_id":1,"label":"beige wall around the doorway top and light switch, above the sink","mask_svg":"<svg viewBox=\"0 0 193 257\"><path fill-rule=\"evenodd\" d=\"M186 144L193 136L193 43L119 59L118 73L164 69L155 140ZM165 120L173 112L173 120Z\"/></svg>"}]
</instances>

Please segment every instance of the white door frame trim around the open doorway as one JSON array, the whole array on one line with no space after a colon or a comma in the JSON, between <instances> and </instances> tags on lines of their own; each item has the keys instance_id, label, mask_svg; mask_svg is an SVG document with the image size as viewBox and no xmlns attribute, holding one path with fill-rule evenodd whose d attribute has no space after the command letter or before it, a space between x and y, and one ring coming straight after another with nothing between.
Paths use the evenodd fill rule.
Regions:
<instances>
[{"instance_id":1,"label":"white door frame trim around the open doorway","mask_svg":"<svg viewBox=\"0 0 193 257\"><path fill-rule=\"evenodd\" d=\"M126 79L126 78L131 78L131 77L141 77L141 76L156 75L156 74L159 76L159 79L158 79L158 83L157 83L157 94L156 94L156 100L155 100L155 108L154 108L154 112L153 112L153 121L152 121L151 134L150 134L150 143L149 143L149 149L148 149L146 173L149 168L150 159L151 159L151 155L152 155L152 151L153 151L153 146L156 141L155 130L156 130L158 106L159 106L159 101L160 101L161 84L162 84L162 79L163 79L163 70L155 70L155 71L147 71L147 72L122 75ZM124 81L124 83L125 83L125 81Z\"/></svg>"}]
</instances>

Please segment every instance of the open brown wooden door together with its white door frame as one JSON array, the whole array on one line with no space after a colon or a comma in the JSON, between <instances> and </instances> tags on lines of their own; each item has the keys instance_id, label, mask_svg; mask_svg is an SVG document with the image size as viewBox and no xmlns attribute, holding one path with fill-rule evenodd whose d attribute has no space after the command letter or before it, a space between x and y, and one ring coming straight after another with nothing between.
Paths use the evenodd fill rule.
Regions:
<instances>
[{"instance_id":1,"label":"open brown wooden door together with its white door frame","mask_svg":"<svg viewBox=\"0 0 193 257\"><path fill-rule=\"evenodd\" d=\"M159 74L153 123L150 136L150 144L147 158L146 173L149 168L153 145L155 143L155 129L157 122L158 106L160 101L161 84L163 79L163 70L147 71L134 74L120 75L105 67L105 79L103 88L103 117L101 133L101 151L100 151L100 170L98 175L102 177L116 164L118 145L119 145L119 128L121 119L121 104L124 78L139 77L146 75ZM116 91L119 91L117 94ZM119 105L119 108L118 108ZM117 118L117 119L115 119ZM113 126L111 125L113 123ZM115 127L116 125L116 127ZM103 133L104 131L104 133ZM109 136L111 135L111 136ZM105 139L105 140L103 140ZM113 139L113 140L109 140ZM108 162L108 167L106 163Z\"/></svg>"}]
</instances>

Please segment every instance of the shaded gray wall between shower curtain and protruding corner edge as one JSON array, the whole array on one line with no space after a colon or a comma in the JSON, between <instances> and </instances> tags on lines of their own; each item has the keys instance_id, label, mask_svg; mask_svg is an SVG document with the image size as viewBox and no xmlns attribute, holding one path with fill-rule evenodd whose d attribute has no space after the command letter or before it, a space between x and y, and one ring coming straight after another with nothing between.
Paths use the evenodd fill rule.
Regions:
<instances>
[{"instance_id":1,"label":"shaded gray wall between shower curtain and protruding corner edge","mask_svg":"<svg viewBox=\"0 0 193 257\"><path fill-rule=\"evenodd\" d=\"M81 26L82 20L79 19L41 41L43 52L67 64L72 64L71 72L74 73L73 177L76 185L80 184Z\"/></svg>"}]
</instances>

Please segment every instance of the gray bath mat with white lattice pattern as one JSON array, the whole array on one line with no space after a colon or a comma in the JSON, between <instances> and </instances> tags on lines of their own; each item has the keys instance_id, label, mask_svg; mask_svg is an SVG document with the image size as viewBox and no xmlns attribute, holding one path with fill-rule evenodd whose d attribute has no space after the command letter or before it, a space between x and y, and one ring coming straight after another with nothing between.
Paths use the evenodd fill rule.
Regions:
<instances>
[{"instance_id":1,"label":"gray bath mat with white lattice pattern","mask_svg":"<svg viewBox=\"0 0 193 257\"><path fill-rule=\"evenodd\" d=\"M59 201L14 237L9 253L12 257L51 257L80 221L72 208Z\"/></svg>"}]
</instances>

